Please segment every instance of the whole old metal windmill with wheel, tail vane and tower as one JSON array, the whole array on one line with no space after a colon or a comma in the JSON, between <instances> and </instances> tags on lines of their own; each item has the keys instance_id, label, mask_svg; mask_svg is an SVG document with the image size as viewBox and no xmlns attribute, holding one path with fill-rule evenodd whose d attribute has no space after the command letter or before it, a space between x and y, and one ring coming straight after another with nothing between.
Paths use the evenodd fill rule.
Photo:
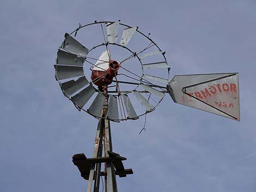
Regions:
<instances>
[{"instance_id":1,"label":"whole old metal windmill with wheel, tail vane and tower","mask_svg":"<svg viewBox=\"0 0 256 192\"><path fill-rule=\"evenodd\" d=\"M86 46L84 46L86 45ZM116 176L133 174L113 152L110 121L136 120L153 112L168 93L175 103L240 120L238 73L174 76L165 52L138 27L95 21L65 34L57 52L56 80L78 110L97 119L92 158L72 157L87 192L117 191ZM105 169L101 171L101 164Z\"/></svg>"}]
</instances>

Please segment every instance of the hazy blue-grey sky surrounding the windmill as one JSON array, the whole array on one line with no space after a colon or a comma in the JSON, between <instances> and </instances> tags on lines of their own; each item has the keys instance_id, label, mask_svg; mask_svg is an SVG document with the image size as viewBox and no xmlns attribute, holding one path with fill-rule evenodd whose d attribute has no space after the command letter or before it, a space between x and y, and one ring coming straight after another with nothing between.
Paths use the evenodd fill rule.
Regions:
<instances>
[{"instance_id":1,"label":"hazy blue-grey sky surrounding the windmill","mask_svg":"<svg viewBox=\"0 0 256 192\"><path fill-rule=\"evenodd\" d=\"M133 175L119 191L256 190L256 1L1 1L0 189L85 191L71 162L92 156L97 120L78 112L54 79L65 32L78 23L139 26L166 51L174 75L240 73L241 122L175 104L112 123L114 152Z\"/></svg>"}]
</instances>

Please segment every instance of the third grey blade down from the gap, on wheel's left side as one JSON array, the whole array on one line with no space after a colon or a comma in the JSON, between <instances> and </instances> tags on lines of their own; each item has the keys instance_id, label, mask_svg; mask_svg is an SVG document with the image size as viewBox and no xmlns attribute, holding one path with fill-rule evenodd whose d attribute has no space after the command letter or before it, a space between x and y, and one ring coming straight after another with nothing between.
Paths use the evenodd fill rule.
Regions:
<instances>
[{"instance_id":1,"label":"third grey blade down from the gap, on wheel's left side","mask_svg":"<svg viewBox=\"0 0 256 192\"><path fill-rule=\"evenodd\" d=\"M83 67L54 65L54 68L56 70L55 77L59 80L83 76Z\"/></svg>"}]
</instances>

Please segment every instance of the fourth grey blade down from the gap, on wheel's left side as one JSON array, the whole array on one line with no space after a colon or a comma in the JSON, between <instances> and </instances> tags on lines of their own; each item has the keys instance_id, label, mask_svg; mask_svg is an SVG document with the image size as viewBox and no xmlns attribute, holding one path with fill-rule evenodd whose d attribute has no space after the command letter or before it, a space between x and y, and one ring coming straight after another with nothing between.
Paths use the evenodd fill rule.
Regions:
<instances>
[{"instance_id":1,"label":"fourth grey blade down from the gap, on wheel's left side","mask_svg":"<svg viewBox=\"0 0 256 192\"><path fill-rule=\"evenodd\" d=\"M63 89L64 95L70 96L86 84L88 84L88 80L86 79L86 77L83 76L78 78L77 80L69 80L68 82L61 83L60 86Z\"/></svg>"}]
</instances>

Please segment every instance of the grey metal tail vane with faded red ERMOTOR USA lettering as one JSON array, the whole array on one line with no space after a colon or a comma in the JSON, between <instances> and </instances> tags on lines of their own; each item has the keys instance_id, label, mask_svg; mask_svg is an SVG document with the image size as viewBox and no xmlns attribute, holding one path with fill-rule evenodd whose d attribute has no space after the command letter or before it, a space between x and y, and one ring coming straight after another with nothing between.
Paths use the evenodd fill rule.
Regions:
<instances>
[{"instance_id":1,"label":"grey metal tail vane with faded red ERMOTOR USA lettering","mask_svg":"<svg viewBox=\"0 0 256 192\"><path fill-rule=\"evenodd\" d=\"M167 88L175 103L240 121L238 73L174 76Z\"/></svg>"}]
</instances>

